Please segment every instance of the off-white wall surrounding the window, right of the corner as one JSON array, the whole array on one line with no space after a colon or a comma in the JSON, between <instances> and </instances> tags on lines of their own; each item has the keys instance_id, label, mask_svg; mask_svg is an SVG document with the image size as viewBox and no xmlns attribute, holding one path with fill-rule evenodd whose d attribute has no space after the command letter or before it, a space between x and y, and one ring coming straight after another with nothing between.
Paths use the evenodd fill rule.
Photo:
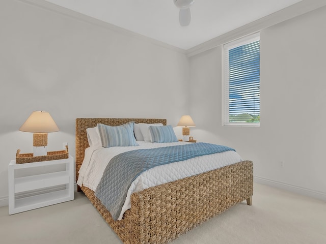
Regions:
<instances>
[{"instance_id":1,"label":"off-white wall surrounding the window, right of the corner","mask_svg":"<svg viewBox=\"0 0 326 244\"><path fill-rule=\"evenodd\" d=\"M193 135L232 146L243 159L253 160L256 180L322 199L326 199L324 23L325 7L261 31L260 128L222 126L222 47L190 58Z\"/></svg>"}]
</instances>

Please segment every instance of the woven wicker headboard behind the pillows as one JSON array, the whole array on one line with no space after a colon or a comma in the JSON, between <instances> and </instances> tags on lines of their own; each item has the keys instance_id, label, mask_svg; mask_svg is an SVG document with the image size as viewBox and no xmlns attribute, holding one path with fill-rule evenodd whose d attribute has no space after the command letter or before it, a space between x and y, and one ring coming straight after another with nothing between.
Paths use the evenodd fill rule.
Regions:
<instances>
[{"instance_id":1,"label":"woven wicker headboard behind the pillows","mask_svg":"<svg viewBox=\"0 0 326 244\"><path fill-rule=\"evenodd\" d=\"M78 171L82 166L85 149L89 147L86 129L95 127L98 123L108 126L120 126L130 121L138 123L154 124L162 123L167 125L166 119L160 118L76 118L76 180L78 179Z\"/></svg>"}]
</instances>

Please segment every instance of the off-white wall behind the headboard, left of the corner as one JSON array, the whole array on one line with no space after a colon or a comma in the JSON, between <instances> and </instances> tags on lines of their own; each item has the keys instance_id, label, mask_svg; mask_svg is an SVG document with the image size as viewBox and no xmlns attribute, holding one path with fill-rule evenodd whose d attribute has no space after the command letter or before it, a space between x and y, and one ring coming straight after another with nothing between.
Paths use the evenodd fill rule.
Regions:
<instances>
[{"instance_id":1,"label":"off-white wall behind the headboard, left of the corner","mask_svg":"<svg viewBox=\"0 0 326 244\"><path fill-rule=\"evenodd\" d=\"M0 203L8 198L8 164L33 151L19 127L33 110L60 128L48 149L68 142L75 118L167 118L188 113L184 53L18 1L0 2Z\"/></svg>"}]
</instances>

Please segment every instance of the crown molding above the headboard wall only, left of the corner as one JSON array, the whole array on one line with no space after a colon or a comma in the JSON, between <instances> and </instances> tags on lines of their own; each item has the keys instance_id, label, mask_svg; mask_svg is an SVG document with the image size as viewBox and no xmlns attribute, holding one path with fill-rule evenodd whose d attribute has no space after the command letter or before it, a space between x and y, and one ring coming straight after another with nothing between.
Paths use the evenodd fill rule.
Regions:
<instances>
[{"instance_id":1,"label":"crown molding above the headboard wall only, left of the corner","mask_svg":"<svg viewBox=\"0 0 326 244\"><path fill-rule=\"evenodd\" d=\"M73 19L77 19L79 21L89 23L89 24L93 24L93 25L108 29L110 31L116 32L116 33L124 35L124 36L140 39L142 41L145 41L145 42L148 42L148 43L151 43L151 44L163 47L163 48L167 48L167 49L170 49L170 50L182 53L182 54L186 53L186 50L184 50L184 49L169 45L169 44L164 43L164 42L160 42L158 40L143 36L143 35L138 34L138 33L131 32L131 31L127 30L127 29L124 29L124 28L121 28L119 26L116 26L116 25L113 25L113 24L110 24L110 23L107 23L107 22L92 18L92 17L87 16L85 14L77 13L77 12L75 12L73 10L66 9L66 8L61 7L59 5L55 5L55 4L46 2L45 0L16 0L16 1L24 3L24 4L31 5L31 6L34 6L34 7L39 7L41 9L45 9L45 10L48 10L48 11L51 11L51 12L54 12L54 13L57 13L57 14L64 15L66 17L70 17L70 18L73 18Z\"/></svg>"}]
</instances>

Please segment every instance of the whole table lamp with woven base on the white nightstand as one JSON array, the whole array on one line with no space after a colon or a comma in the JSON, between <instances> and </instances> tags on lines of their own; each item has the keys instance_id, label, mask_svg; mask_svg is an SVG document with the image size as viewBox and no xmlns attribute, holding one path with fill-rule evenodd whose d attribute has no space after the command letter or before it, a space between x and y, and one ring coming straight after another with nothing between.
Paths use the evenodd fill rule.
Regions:
<instances>
[{"instance_id":1,"label":"whole table lamp with woven base on the white nightstand","mask_svg":"<svg viewBox=\"0 0 326 244\"><path fill-rule=\"evenodd\" d=\"M33 111L19 128L20 131L33 132L33 156L47 155L47 133L60 131L48 112Z\"/></svg>"}]
</instances>

